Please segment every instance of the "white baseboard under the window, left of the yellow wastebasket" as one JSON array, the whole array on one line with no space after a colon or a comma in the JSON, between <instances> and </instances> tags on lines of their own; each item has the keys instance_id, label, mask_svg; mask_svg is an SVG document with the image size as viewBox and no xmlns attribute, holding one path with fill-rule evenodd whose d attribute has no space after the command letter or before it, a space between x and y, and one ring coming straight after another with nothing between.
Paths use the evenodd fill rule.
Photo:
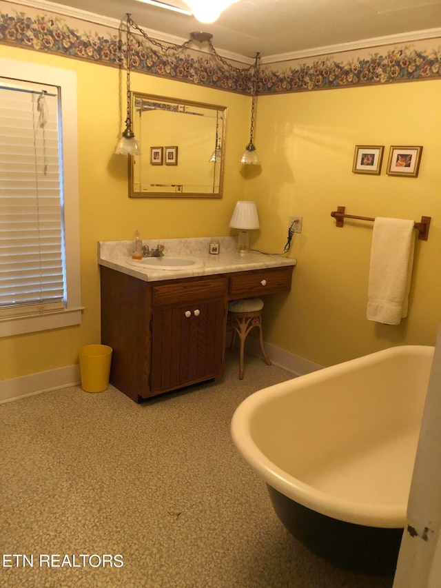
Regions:
<instances>
[{"instance_id":1,"label":"white baseboard under the window, left of the yellow wastebasket","mask_svg":"<svg viewBox=\"0 0 441 588\"><path fill-rule=\"evenodd\" d=\"M50 369L20 378L0 380L0 404L49 390L76 386L81 382L79 364Z\"/></svg>"}]
</instances>

